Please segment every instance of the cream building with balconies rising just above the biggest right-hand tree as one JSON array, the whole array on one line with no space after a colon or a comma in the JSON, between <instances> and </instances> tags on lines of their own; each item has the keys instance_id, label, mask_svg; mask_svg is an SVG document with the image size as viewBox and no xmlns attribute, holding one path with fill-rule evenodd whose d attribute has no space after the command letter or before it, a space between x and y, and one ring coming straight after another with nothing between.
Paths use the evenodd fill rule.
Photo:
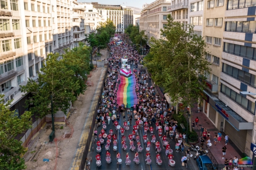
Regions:
<instances>
[{"instance_id":1,"label":"cream building with balconies rising just above the biggest right-hand tree","mask_svg":"<svg viewBox=\"0 0 256 170\"><path fill-rule=\"evenodd\" d=\"M184 29L187 29L188 25L188 10L188 0L172 0L171 5L167 7L167 11L171 13L173 20L184 24ZM194 19L196 20L198 17Z\"/></svg>"}]
</instances>

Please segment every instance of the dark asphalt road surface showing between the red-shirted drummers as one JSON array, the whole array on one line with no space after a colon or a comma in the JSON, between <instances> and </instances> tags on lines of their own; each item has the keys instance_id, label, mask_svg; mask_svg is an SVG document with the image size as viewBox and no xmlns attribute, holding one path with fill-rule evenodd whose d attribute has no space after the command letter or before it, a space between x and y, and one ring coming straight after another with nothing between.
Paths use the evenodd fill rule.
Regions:
<instances>
[{"instance_id":1,"label":"dark asphalt road surface showing between the red-shirted drummers","mask_svg":"<svg viewBox=\"0 0 256 170\"><path fill-rule=\"evenodd\" d=\"M133 70L133 65L131 65L132 70ZM149 83L149 86L151 85L151 83L149 82L149 80L147 81ZM132 113L132 116L134 118L134 115ZM120 124L121 127L123 127L123 123L124 121L128 121L128 117L127 117L127 113L126 113L126 118L123 119L123 116L120 115ZM106 121L107 123L107 121ZM104 141L104 144L102 144L102 149L100 152L100 156L101 156L101 166L96 166L96 142L94 144L94 136L92 137L92 145L91 145L91 152L88 153L88 158L90 159L92 157L92 162L90 164L90 169L91 170L125 170L125 169L134 169L134 170L160 170L160 169L191 169L191 170L198 170L198 167L196 166L196 160L194 159L190 159L187 161L187 165L188 168L186 168L186 166L182 166L181 165L181 158L182 156L184 156L185 153L182 152L175 152L175 140L170 141L170 138L168 138L168 141L170 143L170 147L172 150L174 150L173 152L173 160L175 161L175 166L171 167L168 166L168 158L165 155L165 148L163 147L163 143L162 143L162 139L159 138L158 136L158 132L156 131L156 126L155 124L152 124L152 127L154 128L154 134L156 135L156 140L158 140L160 142L160 147L162 149L162 151L160 152L160 156L161 156L161 160L163 161L162 165L157 165L156 164L156 150L155 150L155 145L151 144L150 147L150 154L151 154L151 160L152 160L152 164L148 165L146 164L146 145L143 144L143 135L144 135L144 128L140 127L138 129L138 134L140 136L140 142L142 144L142 152L139 152L139 159L140 159L140 164L135 164L135 162L133 161L134 159L134 155L135 152L137 151L137 142L134 141L134 146L136 146L136 150L135 151L131 151L129 150L130 144L129 144L129 140L128 140L128 135L132 133L132 127L135 124L135 120L132 120L132 126L130 126L130 129L124 132L124 135L126 136L126 145L128 146L127 150L122 150L122 144L121 144L121 132L120 130L116 131L114 125L112 125L112 121L110 121L110 125L108 125L107 123L107 129L105 130L105 132L108 134L110 128L112 128L112 130L114 131L114 134L116 134L118 136L118 145L117 145L117 151L113 150L113 143L110 144L110 154L111 154L111 160L112 163L107 164L106 162L106 149L105 149L105 145L106 145L106 139ZM97 128L97 127L95 127ZM100 130L102 129L102 125L100 127L97 128L98 130L98 134L100 133ZM163 130L164 132L164 130ZM162 134L163 135L163 134ZM147 132L147 136L148 136L148 140L151 141L151 136L150 136L150 132L148 130ZM94 148L94 151L92 151L92 147ZM186 148L184 148L184 152L185 150L188 149L188 146L186 146ZM117 152L120 152L121 154L121 159L122 159L122 164L117 164L117 160L116 160L116 154ZM130 156L130 160L131 160L131 165L126 165L125 160L126 160L126 153L129 153ZM192 154L194 155L195 153L192 152ZM194 156L193 156L194 157Z\"/></svg>"}]
</instances>

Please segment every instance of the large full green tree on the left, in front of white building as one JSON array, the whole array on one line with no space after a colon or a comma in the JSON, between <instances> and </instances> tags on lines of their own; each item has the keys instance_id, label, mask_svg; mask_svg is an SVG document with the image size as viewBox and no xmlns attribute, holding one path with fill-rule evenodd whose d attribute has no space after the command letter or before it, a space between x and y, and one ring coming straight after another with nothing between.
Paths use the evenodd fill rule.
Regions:
<instances>
[{"instance_id":1,"label":"large full green tree on the left, in front of white building","mask_svg":"<svg viewBox=\"0 0 256 170\"><path fill-rule=\"evenodd\" d=\"M21 87L24 93L32 93L30 101L34 107L30 108L32 113L38 113L42 118L51 113L51 98L53 101L53 113L61 110L66 114L70 102L76 100L75 92L79 90L79 81L74 81L75 72L66 67L66 60L58 61L59 54L48 54L46 65L40 69L43 74L38 75L38 83L28 79L28 83Z\"/></svg>"}]
</instances>

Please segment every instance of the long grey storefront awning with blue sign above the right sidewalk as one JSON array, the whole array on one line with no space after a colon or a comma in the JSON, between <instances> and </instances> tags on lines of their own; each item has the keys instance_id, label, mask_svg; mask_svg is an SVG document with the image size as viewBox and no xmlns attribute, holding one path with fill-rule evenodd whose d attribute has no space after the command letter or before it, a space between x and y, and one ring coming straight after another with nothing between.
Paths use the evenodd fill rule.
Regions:
<instances>
[{"instance_id":1,"label":"long grey storefront awning with blue sign above the right sidewalk","mask_svg":"<svg viewBox=\"0 0 256 170\"><path fill-rule=\"evenodd\" d=\"M253 129L253 122L247 122L244 118L238 115L235 111L230 109L225 103L220 101L215 96L209 95L208 91L204 90L204 93L209 96L209 103L232 127L236 130L250 130Z\"/></svg>"}]
</instances>

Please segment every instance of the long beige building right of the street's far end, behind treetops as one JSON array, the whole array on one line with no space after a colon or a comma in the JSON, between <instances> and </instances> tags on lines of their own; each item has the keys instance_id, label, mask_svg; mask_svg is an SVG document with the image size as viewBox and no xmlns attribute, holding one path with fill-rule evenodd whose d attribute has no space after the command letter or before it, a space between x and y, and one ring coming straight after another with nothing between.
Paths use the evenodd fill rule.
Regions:
<instances>
[{"instance_id":1,"label":"long beige building right of the street's far end, behind treetops","mask_svg":"<svg viewBox=\"0 0 256 170\"><path fill-rule=\"evenodd\" d=\"M145 30L149 38L161 37L161 28L167 24L167 7L170 6L170 0L156 0L144 7L140 14L140 31Z\"/></svg>"}]
</instances>

